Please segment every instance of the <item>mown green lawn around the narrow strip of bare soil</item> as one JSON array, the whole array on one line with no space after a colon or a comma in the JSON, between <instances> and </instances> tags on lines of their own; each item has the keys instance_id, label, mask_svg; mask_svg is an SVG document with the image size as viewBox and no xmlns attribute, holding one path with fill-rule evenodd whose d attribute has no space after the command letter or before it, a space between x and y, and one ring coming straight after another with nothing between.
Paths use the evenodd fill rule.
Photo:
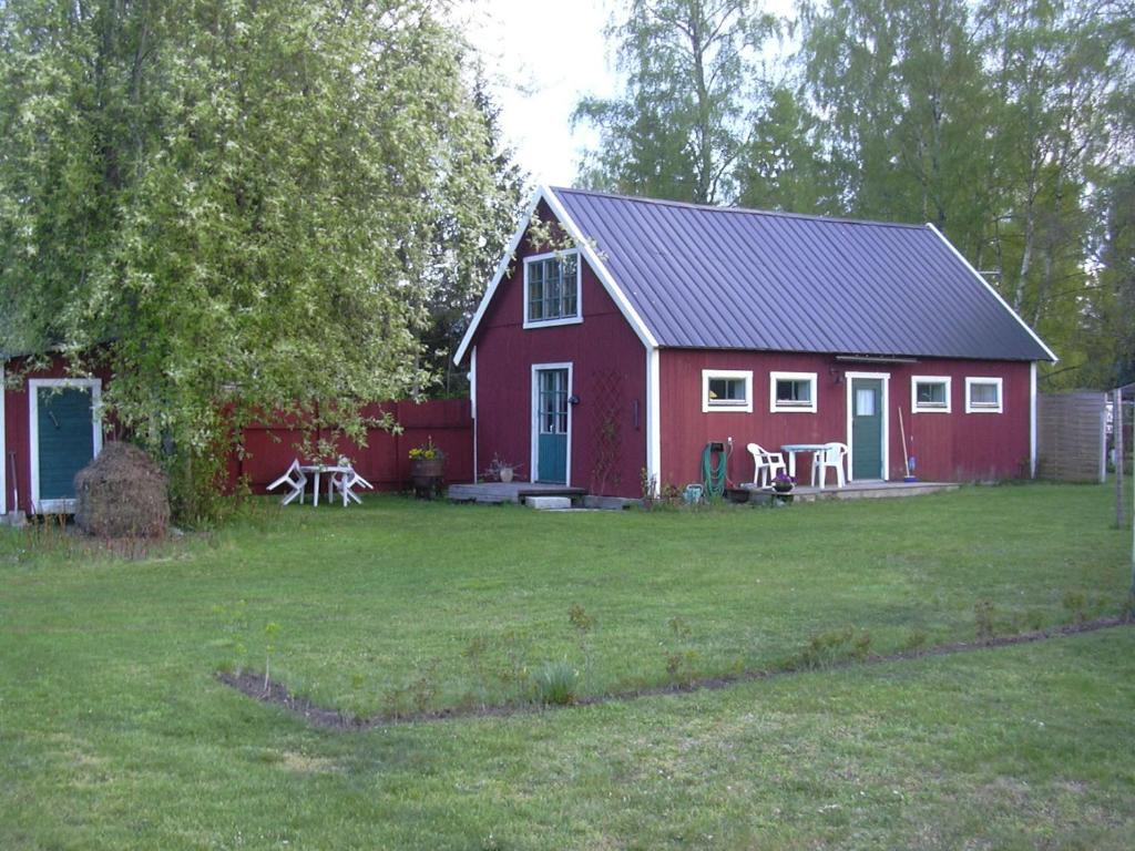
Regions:
<instances>
[{"instance_id":1,"label":"mown green lawn around the narrow strip of bare soil","mask_svg":"<svg viewBox=\"0 0 1135 851\"><path fill-rule=\"evenodd\" d=\"M984 601L997 632L1117 614L1110 496L263 504L136 562L3 531L0 848L1127 848L1130 627L345 734L212 676L271 643L274 679L369 716L516 701L548 660L604 693L783 667L847 626L872 652L973 640Z\"/></svg>"}]
</instances>

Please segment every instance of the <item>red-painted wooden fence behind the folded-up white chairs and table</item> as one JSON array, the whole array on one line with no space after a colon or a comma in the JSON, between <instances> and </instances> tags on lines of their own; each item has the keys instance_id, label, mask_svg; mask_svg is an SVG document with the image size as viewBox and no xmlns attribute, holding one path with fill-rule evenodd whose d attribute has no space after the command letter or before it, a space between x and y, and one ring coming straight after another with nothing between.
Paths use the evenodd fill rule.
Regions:
<instances>
[{"instance_id":1,"label":"red-painted wooden fence behind the folded-up white chairs and table","mask_svg":"<svg viewBox=\"0 0 1135 851\"><path fill-rule=\"evenodd\" d=\"M394 435L371 429L367 446L340 441L337 454L351 458L359 473L378 490L403 490L410 483L410 449L432 439L446 456L447 482L473 480L473 421L466 399L440 402L390 402L372 405L369 416L389 412L402 427ZM316 439L326 435L316 432ZM229 458L233 482L246 478L254 492L280 477L294 458L302 457L303 430L294 423L257 423L244 430L244 452Z\"/></svg>"}]
</instances>

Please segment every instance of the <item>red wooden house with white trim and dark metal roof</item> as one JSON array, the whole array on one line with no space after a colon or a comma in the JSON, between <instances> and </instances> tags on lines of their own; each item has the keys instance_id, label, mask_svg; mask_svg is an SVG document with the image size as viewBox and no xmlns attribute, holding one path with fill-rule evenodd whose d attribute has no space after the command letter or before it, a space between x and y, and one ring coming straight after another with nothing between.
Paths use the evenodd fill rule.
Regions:
<instances>
[{"instance_id":1,"label":"red wooden house with white trim and dark metal roof","mask_svg":"<svg viewBox=\"0 0 1135 851\"><path fill-rule=\"evenodd\" d=\"M922 479L1031 475L1056 355L931 225L541 188L455 360L476 469L638 496L699 481L712 441L737 482L750 441L835 440L851 479L901 479L900 413Z\"/></svg>"}]
</instances>

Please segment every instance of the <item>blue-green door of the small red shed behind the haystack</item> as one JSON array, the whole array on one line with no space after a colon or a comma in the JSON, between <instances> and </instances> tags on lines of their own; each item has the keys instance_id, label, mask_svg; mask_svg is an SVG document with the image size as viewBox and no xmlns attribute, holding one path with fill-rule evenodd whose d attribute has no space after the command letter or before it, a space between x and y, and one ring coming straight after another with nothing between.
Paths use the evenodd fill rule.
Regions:
<instances>
[{"instance_id":1,"label":"blue-green door of the small red shed behind the haystack","mask_svg":"<svg viewBox=\"0 0 1135 851\"><path fill-rule=\"evenodd\" d=\"M75 498L75 473L94 457L91 388L37 388L40 502Z\"/></svg>"}]
</instances>

